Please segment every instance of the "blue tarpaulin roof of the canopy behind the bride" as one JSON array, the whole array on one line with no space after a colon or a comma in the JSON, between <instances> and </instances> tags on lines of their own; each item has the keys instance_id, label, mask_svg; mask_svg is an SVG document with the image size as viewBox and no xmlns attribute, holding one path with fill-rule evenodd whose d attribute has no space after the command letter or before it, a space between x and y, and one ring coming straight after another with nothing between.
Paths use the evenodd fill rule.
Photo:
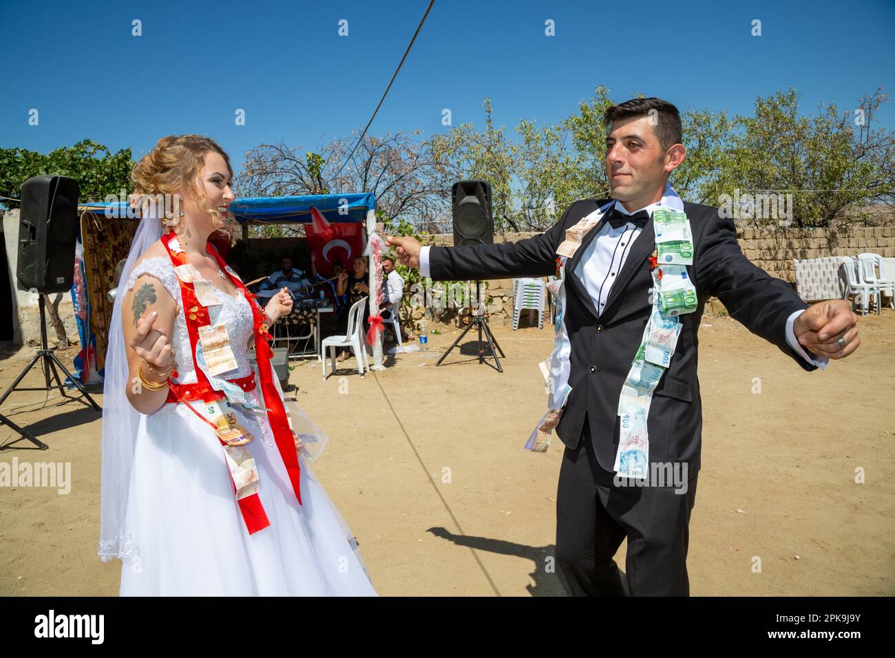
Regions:
<instances>
[{"instance_id":1,"label":"blue tarpaulin roof of the canopy behind the bride","mask_svg":"<svg viewBox=\"0 0 895 658\"><path fill-rule=\"evenodd\" d=\"M367 210L376 209L376 197L370 192L245 197L230 204L230 214L240 224L310 224L311 206L329 222L357 223L366 219ZM128 205L125 201L88 202L79 204L79 209L126 217Z\"/></svg>"}]
</instances>

